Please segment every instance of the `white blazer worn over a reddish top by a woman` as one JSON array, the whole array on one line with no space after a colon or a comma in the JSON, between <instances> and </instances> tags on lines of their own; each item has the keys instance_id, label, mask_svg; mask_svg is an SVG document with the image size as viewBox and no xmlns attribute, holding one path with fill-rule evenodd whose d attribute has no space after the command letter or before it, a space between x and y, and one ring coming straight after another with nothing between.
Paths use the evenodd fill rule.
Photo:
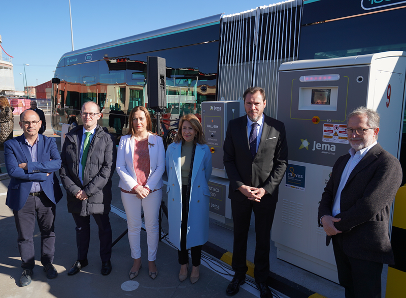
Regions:
<instances>
[{"instance_id":1,"label":"white blazer worn over a reddish top by a woman","mask_svg":"<svg viewBox=\"0 0 406 298\"><path fill-rule=\"evenodd\" d=\"M116 169L120 176L118 187L126 191L130 191L134 186L139 184L133 163L134 143L135 140L132 135L122 136L117 150ZM162 174L165 171L165 149L162 138L148 133L148 150L150 170L145 187L154 191L163 186Z\"/></svg>"}]
</instances>

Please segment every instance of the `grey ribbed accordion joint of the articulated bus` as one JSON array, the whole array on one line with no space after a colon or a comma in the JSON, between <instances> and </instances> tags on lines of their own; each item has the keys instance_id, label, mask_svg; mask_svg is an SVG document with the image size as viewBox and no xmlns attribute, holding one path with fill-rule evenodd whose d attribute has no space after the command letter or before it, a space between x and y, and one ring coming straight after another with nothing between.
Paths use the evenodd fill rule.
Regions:
<instances>
[{"instance_id":1,"label":"grey ribbed accordion joint of the articulated bus","mask_svg":"<svg viewBox=\"0 0 406 298\"><path fill-rule=\"evenodd\" d=\"M219 100L242 99L247 87L260 86L265 113L275 117L279 66L297 59L301 4L288 0L223 16Z\"/></svg>"}]
</instances>

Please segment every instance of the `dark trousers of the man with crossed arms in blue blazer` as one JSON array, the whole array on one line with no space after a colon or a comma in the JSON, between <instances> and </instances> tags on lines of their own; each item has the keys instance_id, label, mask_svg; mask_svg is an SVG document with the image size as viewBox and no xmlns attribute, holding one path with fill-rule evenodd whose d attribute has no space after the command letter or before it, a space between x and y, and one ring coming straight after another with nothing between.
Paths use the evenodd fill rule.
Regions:
<instances>
[{"instance_id":1,"label":"dark trousers of the man with crossed arms in blue blazer","mask_svg":"<svg viewBox=\"0 0 406 298\"><path fill-rule=\"evenodd\" d=\"M35 220L41 232L41 263L45 266L53 262L55 253L55 204L45 193L28 196L21 210L15 211L14 220L18 232L18 250L22 260L21 267L32 270L35 266L34 243L32 240Z\"/></svg>"}]
</instances>

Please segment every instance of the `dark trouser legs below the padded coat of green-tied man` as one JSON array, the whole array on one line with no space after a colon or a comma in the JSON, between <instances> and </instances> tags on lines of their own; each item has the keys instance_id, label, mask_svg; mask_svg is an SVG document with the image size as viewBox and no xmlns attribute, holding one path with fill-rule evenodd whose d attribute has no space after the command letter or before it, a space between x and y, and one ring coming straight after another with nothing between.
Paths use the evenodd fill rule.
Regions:
<instances>
[{"instance_id":1,"label":"dark trouser legs below the padded coat of green-tied man","mask_svg":"<svg viewBox=\"0 0 406 298\"><path fill-rule=\"evenodd\" d=\"M76 223L76 245L78 246L78 260L87 259L90 243L90 216L79 216L72 213ZM107 262L111 258L112 231L109 214L93 214L98 226L98 239L100 240L100 258Z\"/></svg>"}]
</instances>

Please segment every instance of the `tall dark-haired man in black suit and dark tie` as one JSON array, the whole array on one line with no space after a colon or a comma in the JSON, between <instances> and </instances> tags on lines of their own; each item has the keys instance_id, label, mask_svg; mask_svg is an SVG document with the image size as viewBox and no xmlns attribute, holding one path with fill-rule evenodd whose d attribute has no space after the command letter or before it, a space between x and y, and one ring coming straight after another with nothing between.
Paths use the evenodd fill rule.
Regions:
<instances>
[{"instance_id":1,"label":"tall dark-haired man in black suit and dark tie","mask_svg":"<svg viewBox=\"0 0 406 298\"><path fill-rule=\"evenodd\" d=\"M231 120L224 141L224 166L230 180L228 197L234 223L232 269L234 278L226 294L232 296L245 283L247 240L251 213L255 214L255 282L261 297L272 297L269 274L270 228L274 221L278 188L288 163L288 145L282 122L263 114L265 92L250 87L244 92L247 116Z\"/></svg>"}]
</instances>

